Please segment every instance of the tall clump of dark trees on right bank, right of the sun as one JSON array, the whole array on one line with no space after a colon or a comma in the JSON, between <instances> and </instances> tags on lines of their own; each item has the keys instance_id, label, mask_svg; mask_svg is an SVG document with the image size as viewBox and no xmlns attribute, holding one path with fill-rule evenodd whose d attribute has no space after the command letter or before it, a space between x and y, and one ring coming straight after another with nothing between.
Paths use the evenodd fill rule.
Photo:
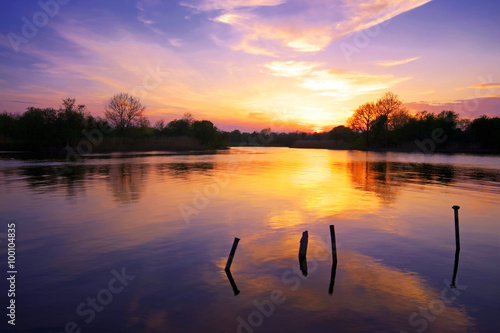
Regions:
<instances>
[{"instance_id":1,"label":"tall clump of dark trees on right bank, right of the sun","mask_svg":"<svg viewBox=\"0 0 500 333\"><path fill-rule=\"evenodd\" d=\"M410 114L403 101L392 92L385 93L376 102L359 106L347 123L354 136L344 139L367 149L500 150L500 118L483 115L465 119L451 110Z\"/></svg>"}]
</instances>

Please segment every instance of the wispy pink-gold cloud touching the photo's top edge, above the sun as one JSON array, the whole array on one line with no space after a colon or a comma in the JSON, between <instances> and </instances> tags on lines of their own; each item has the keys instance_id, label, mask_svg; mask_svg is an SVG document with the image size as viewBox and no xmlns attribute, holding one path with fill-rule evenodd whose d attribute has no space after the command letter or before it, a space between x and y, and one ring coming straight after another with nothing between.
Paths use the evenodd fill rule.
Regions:
<instances>
[{"instance_id":1,"label":"wispy pink-gold cloud touching the photo's top edge, above the sun","mask_svg":"<svg viewBox=\"0 0 500 333\"><path fill-rule=\"evenodd\" d=\"M284 55L296 52L318 52L343 36L419 7L431 0L315 0L301 3L301 11L277 15L276 11L255 11L255 7L283 5L292 8L294 1L281 0L204 0L184 3L197 12L215 11L214 21L231 25L238 41L227 46L251 54ZM243 8L245 7L245 8ZM218 11L216 11L218 10ZM220 13L220 10L223 10ZM286 10L284 11L286 12ZM225 30L227 34L227 31Z\"/></svg>"}]
</instances>

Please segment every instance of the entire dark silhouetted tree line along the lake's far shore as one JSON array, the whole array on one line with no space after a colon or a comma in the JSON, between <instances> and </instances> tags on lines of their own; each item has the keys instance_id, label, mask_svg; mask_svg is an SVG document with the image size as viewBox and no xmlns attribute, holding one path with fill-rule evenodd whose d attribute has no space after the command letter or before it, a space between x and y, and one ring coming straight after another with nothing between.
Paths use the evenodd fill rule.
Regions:
<instances>
[{"instance_id":1,"label":"entire dark silhouetted tree line along the lake's far shore","mask_svg":"<svg viewBox=\"0 0 500 333\"><path fill-rule=\"evenodd\" d=\"M225 148L234 146L286 146L337 149L394 149L434 151L500 151L500 118L461 118L456 112L411 114L399 97L385 93L353 111L346 126L328 132L259 132L219 130L209 120L195 120L189 113L168 123L151 126L146 107L126 93L106 103L104 118L92 116L85 105L64 99L58 109L29 107L21 115L0 114L0 149L63 151L74 147L96 130L113 142L134 149ZM175 140L173 140L175 139ZM102 145L106 147L106 142ZM177 146L177 147L176 147ZM109 145L115 149L116 145Z\"/></svg>"}]
</instances>

